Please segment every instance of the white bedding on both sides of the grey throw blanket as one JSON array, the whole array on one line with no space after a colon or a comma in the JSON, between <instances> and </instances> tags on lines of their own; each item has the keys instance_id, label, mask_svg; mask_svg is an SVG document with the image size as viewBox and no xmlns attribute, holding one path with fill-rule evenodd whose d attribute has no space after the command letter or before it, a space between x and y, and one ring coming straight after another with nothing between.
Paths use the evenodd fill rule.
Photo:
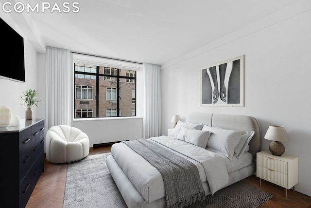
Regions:
<instances>
[{"instance_id":1,"label":"white bedding on both sides of the grey throw blanket","mask_svg":"<svg viewBox=\"0 0 311 208\"><path fill-rule=\"evenodd\" d=\"M223 155L199 148L170 136L159 136L150 139L159 145L164 145L165 148L174 151L176 154L183 156L195 164L199 170L201 181L205 184L204 189L210 189L212 194L227 184L228 172L252 163L252 154L248 152L245 152L240 159L234 157L230 161ZM153 202L165 197L165 189L160 172L144 158L124 143L114 144L111 148L111 154L147 202ZM208 182L209 186L206 185L206 182ZM206 190L206 192L209 191Z\"/></svg>"}]
</instances>

